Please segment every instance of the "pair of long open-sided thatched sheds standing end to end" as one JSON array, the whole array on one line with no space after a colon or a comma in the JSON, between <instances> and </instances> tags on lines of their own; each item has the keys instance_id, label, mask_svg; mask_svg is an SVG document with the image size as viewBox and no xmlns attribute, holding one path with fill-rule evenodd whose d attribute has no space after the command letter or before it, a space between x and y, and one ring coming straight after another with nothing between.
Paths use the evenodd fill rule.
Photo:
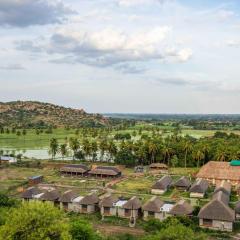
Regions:
<instances>
[{"instance_id":1,"label":"pair of long open-sided thatched sheds standing end to end","mask_svg":"<svg viewBox=\"0 0 240 240\"><path fill-rule=\"evenodd\" d=\"M60 172L65 176L90 176L101 178L114 178L122 175L122 172L116 167L96 166L90 169L84 164L68 164L61 167Z\"/></svg>"}]
</instances>

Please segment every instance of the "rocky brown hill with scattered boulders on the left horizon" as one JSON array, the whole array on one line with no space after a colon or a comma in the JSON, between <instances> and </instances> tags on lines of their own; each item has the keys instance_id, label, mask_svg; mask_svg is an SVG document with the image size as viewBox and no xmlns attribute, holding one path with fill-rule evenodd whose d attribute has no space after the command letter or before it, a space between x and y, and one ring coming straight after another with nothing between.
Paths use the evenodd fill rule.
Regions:
<instances>
[{"instance_id":1,"label":"rocky brown hill with scattered boulders on the left horizon","mask_svg":"<svg viewBox=\"0 0 240 240\"><path fill-rule=\"evenodd\" d=\"M108 119L100 114L89 114L83 109L72 109L34 101L0 102L0 125L8 127L100 127Z\"/></svg>"}]
</instances>

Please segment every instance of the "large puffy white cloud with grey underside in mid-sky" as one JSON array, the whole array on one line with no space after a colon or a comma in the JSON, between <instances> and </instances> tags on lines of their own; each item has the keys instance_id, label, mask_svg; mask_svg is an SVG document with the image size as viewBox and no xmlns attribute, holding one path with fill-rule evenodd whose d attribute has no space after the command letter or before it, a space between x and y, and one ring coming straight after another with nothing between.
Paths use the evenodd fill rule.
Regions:
<instances>
[{"instance_id":1,"label":"large puffy white cloud with grey underside in mid-sky","mask_svg":"<svg viewBox=\"0 0 240 240\"><path fill-rule=\"evenodd\" d=\"M170 52L167 50L169 45L174 44L168 40L171 31L168 26L131 33L113 28L100 31L62 28L45 43L22 41L18 48L61 54L67 62L75 61L100 67L153 59L187 61L192 55L191 49L175 47Z\"/></svg>"}]
</instances>

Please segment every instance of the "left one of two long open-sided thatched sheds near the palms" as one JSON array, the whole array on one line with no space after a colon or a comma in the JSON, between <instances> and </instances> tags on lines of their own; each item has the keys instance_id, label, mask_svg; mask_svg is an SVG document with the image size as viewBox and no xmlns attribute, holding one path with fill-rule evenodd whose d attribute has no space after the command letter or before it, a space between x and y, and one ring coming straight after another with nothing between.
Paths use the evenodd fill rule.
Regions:
<instances>
[{"instance_id":1,"label":"left one of two long open-sided thatched sheds near the palms","mask_svg":"<svg viewBox=\"0 0 240 240\"><path fill-rule=\"evenodd\" d=\"M60 168L61 174L70 176L85 176L89 171L84 164L68 164Z\"/></svg>"}]
</instances>

